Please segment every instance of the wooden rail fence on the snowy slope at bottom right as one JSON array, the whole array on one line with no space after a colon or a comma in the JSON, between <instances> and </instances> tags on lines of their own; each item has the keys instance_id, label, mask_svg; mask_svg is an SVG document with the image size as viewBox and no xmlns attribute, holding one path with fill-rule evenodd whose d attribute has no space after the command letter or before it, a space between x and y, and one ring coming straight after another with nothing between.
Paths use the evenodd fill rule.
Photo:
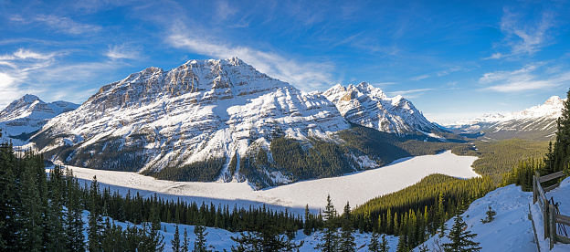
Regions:
<instances>
[{"instance_id":1,"label":"wooden rail fence on the snowy slope at bottom right","mask_svg":"<svg viewBox=\"0 0 570 252\"><path fill-rule=\"evenodd\" d=\"M570 244L570 238L560 236L556 233L556 224L570 226L570 216L559 215L556 213L556 206L553 205L547 198L547 192L558 187L560 184L554 184L543 188L541 183L557 179L564 176L563 172L552 173L545 176L540 176L540 173L534 172L533 175L533 204L538 201L538 205L543 213L544 220L544 239L550 238L550 249L554 247L556 242ZM538 241L536 241L538 243Z\"/></svg>"}]
</instances>

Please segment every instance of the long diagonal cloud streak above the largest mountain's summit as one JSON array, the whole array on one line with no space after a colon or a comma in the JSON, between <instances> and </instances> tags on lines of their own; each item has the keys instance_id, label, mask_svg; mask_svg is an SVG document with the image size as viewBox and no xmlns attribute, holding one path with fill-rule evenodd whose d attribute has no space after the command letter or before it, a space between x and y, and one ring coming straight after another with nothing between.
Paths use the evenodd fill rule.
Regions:
<instances>
[{"instance_id":1,"label":"long diagonal cloud streak above the largest mountain's summit","mask_svg":"<svg viewBox=\"0 0 570 252\"><path fill-rule=\"evenodd\" d=\"M330 63L300 62L270 51L223 44L220 39L197 37L194 32L178 28L180 26L177 25L166 39L173 47L213 58L241 58L270 77L290 82L303 91L326 89L338 82L332 77Z\"/></svg>"}]
</instances>

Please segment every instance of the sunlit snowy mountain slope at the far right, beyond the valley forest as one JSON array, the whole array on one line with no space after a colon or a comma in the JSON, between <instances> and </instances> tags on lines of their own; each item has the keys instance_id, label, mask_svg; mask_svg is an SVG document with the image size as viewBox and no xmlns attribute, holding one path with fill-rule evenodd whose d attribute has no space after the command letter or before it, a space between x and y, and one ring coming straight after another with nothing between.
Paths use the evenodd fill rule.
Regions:
<instances>
[{"instance_id":1,"label":"sunlit snowy mountain slope at the far right, beyond the valley forest","mask_svg":"<svg viewBox=\"0 0 570 252\"><path fill-rule=\"evenodd\" d=\"M562 115L565 100L553 96L544 104L530 109L506 114L485 114L475 119L464 119L444 126L457 133L474 137L551 140L556 131L556 119Z\"/></svg>"}]
</instances>

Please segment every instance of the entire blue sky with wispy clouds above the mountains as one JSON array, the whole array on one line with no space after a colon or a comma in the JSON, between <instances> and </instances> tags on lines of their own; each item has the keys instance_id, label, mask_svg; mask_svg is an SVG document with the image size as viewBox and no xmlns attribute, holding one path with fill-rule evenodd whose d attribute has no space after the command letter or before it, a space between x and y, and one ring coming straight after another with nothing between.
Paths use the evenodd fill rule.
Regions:
<instances>
[{"instance_id":1,"label":"entire blue sky with wispy clouds above the mountains","mask_svg":"<svg viewBox=\"0 0 570 252\"><path fill-rule=\"evenodd\" d=\"M567 1L0 0L0 14L2 108L233 56L304 91L366 81L439 123L570 88Z\"/></svg>"}]
</instances>

